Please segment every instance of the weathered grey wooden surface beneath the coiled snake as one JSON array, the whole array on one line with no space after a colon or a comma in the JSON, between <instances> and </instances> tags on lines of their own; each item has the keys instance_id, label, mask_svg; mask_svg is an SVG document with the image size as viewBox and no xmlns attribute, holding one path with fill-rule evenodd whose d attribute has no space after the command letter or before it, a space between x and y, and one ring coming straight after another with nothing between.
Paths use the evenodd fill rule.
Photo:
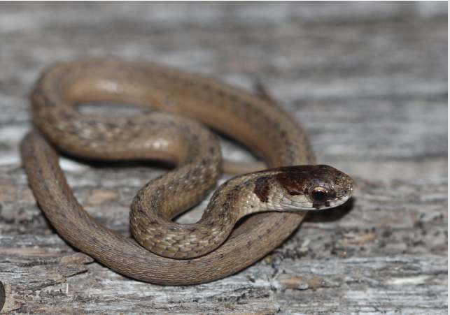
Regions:
<instances>
[{"instance_id":1,"label":"weathered grey wooden surface beneath the coiled snake","mask_svg":"<svg viewBox=\"0 0 450 315\"><path fill-rule=\"evenodd\" d=\"M447 36L447 2L0 3L3 312L447 314ZM262 80L307 128L318 161L356 180L354 198L209 284L108 270L55 234L18 152L38 75L85 56L155 61L248 91ZM134 193L165 171L61 164L87 210L127 235Z\"/></svg>"}]
</instances>

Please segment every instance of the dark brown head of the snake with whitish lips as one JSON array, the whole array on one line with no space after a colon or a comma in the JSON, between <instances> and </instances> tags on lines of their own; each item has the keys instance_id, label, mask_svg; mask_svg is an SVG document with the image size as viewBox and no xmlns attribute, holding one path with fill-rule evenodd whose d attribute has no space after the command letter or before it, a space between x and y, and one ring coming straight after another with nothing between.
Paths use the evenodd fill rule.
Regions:
<instances>
[{"instance_id":1,"label":"dark brown head of the snake with whitish lips","mask_svg":"<svg viewBox=\"0 0 450 315\"><path fill-rule=\"evenodd\" d=\"M353 193L353 180L331 166L287 166L275 171L267 189L255 189L267 210L328 209L342 205Z\"/></svg>"}]
</instances>

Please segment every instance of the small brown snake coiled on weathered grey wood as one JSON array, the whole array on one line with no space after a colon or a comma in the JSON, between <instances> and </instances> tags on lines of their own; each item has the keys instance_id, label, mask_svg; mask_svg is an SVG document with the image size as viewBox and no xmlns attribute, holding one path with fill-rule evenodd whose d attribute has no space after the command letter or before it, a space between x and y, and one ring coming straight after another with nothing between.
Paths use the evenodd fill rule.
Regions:
<instances>
[{"instance_id":1,"label":"small brown snake coiled on weathered grey wood","mask_svg":"<svg viewBox=\"0 0 450 315\"><path fill-rule=\"evenodd\" d=\"M36 128L20 147L38 205L71 246L134 279L185 285L227 277L279 247L308 210L341 205L353 193L351 177L316 165L292 114L267 95L215 79L147 61L83 58L48 68L30 100ZM86 102L131 103L148 112L83 115L77 106ZM213 131L269 168L232 177L213 193L202 219L178 224L172 219L205 198L227 169ZM78 203L59 152L175 167L134 197L130 238Z\"/></svg>"}]
</instances>

